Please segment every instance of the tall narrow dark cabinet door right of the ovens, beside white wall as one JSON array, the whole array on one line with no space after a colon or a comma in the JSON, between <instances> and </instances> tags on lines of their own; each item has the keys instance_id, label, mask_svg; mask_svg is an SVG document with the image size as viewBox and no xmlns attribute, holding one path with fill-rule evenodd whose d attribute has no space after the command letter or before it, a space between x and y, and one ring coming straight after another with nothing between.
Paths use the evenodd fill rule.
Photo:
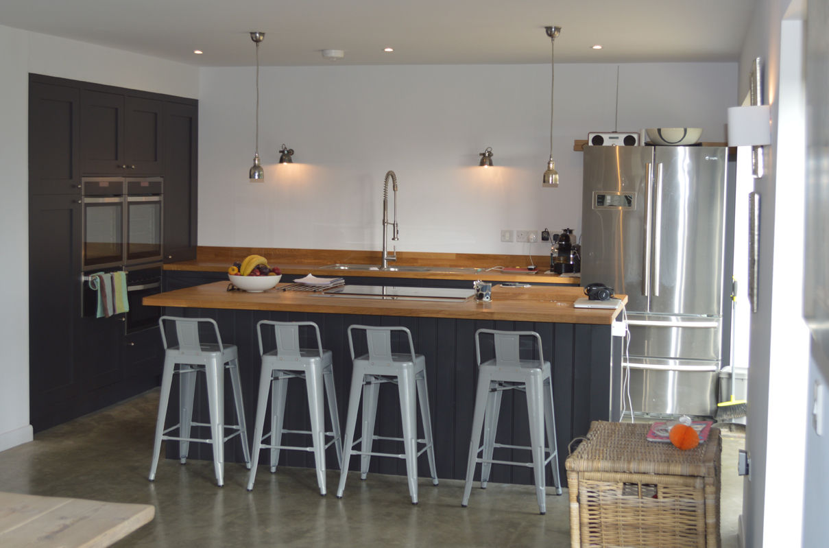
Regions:
<instances>
[{"instance_id":1,"label":"tall narrow dark cabinet door right of the ovens, beside white wall","mask_svg":"<svg viewBox=\"0 0 829 548\"><path fill-rule=\"evenodd\" d=\"M198 103L167 101L164 113L164 262L196 259Z\"/></svg>"}]
</instances>

